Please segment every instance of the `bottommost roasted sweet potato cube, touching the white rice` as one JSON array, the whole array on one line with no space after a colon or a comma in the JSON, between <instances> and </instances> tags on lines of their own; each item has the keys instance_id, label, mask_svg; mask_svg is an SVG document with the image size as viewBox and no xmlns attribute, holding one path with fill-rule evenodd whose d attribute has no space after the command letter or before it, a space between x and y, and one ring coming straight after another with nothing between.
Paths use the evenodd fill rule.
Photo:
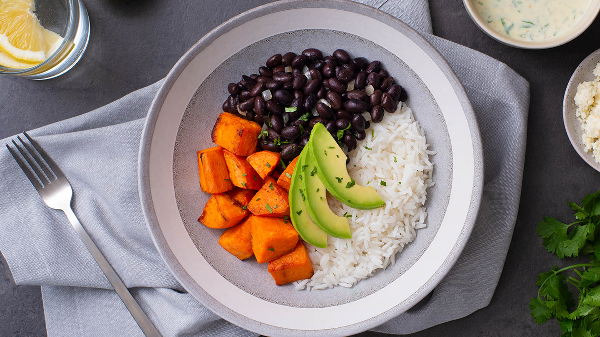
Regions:
<instances>
[{"instance_id":1,"label":"bottommost roasted sweet potato cube, touching the white rice","mask_svg":"<svg viewBox=\"0 0 600 337\"><path fill-rule=\"evenodd\" d=\"M293 251L269 261L268 270L277 285L311 278L314 273L308 252L302 242L296 243Z\"/></svg>"}]
</instances>

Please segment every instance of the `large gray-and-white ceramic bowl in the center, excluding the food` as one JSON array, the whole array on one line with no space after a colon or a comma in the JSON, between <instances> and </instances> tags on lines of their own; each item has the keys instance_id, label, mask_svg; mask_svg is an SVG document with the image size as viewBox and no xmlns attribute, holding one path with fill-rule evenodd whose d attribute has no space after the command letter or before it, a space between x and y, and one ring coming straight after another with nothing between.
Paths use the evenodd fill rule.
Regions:
<instances>
[{"instance_id":1,"label":"large gray-and-white ceramic bowl in the center, excluding the food","mask_svg":"<svg viewBox=\"0 0 600 337\"><path fill-rule=\"evenodd\" d=\"M435 163L428 227L393 267L355 287L297 291L274 284L266 266L239 261L199 224L196 151L210 133L227 83L255 73L271 55L315 47L382 61L409 93ZM139 157L140 199L155 245L181 284L226 320L269 336L351 335L425 297L464 248L477 215L482 149L472 107L457 77L421 35L382 11L344 0L286 0L255 8L203 37L179 60L146 120Z\"/></svg>"}]
</instances>

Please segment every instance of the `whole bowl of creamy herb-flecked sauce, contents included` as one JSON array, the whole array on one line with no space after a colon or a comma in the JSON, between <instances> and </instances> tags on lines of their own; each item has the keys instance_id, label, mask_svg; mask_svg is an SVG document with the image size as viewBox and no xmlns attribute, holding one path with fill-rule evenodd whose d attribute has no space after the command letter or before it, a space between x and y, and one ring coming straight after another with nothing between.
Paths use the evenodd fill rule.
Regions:
<instances>
[{"instance_id":1,"label":"whole bowl of creamy herb-flecked sauce, contents included","mask_svg":"<svg viewBox=\"0 0 600 337\"><path fill-rule=\"evenodd\" d=\"M463 0L485 34L508 46L546 49L583 33L600 12L600 0Z\"/></svg>"}]
</instances>

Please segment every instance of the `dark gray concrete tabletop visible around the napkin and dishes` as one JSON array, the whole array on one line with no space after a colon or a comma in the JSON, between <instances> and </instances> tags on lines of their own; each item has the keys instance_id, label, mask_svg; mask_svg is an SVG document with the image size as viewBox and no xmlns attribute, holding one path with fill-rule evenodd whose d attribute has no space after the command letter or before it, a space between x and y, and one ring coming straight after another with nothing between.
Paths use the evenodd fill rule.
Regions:
<instances>
[{"instance_id":1,"label":"dark gray concrete tabletop visible around the napkin and dishes","mask_svg":"<svg viewBox=\"0 0 600 337\"><path fill-rule=\"evenodd\" d=\"M268 0L230 2L235 9L214 0L85 1L91 38L73 70L41 82L0 77L0 139L80 115L154 83L210 29ZM562 97L572 71L600 48L600 19L565 46L518 50L481 32L461 1L430 0L430 5L436 35L505 62L529 80L532 99L517 225L490 305L411 336L559 336L556 322L538 326L527 308L536 295L538 273L560 264L544 250L535 225L545 215L571 219L567 201L600 187L600 174L572 149L562 122ZM45 336L41 303L40 287L17 287L1 258L0 336Z\"/></svg>"}]
</instances>

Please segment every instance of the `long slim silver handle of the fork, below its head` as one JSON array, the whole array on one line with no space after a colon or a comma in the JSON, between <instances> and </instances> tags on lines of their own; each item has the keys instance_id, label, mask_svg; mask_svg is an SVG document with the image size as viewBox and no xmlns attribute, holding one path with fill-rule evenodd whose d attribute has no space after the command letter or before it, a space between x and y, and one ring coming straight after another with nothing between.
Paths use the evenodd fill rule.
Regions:
<instances>
[{"instance_id":1,"label":"long slim silver handle of the fork, below its head","mask_svg":"<svg viewBox=\"0 0 600 337\"><path fill-rule=\"evenodd\" d=\"M100 269L102 269L104 275L106 275L106 278L109 280L110 284L112 284L113 288L115 288L116 293L119 295L119 297L121 297L121 300L127 307L127 310L131 313L133 319L136 320L137 325L140 326L140 329L142 329L144 335L146 335L146 337L161 337L156 327L154 327L154 324L152 324L148 316L146 316L146 314L142 311L142 308L140 308L139 304L137 304L136 300L133 298L133 296L131 296L131 293L129 290L127 290L127 287L125 287L125 284L115 272L115 269L110 266L109 261L104 258L104 255L102 255L94 241L92 241L92 238L89 237L88 232L85 231L79 222L79 219L77 219L77 216L75 213L73 213L73 209L71 209L71 207L67 207L62 211L67 215L71 225L73 225L73 228L75 228L75 231L77 231L77 234L79 234L79 237L92 254L92 257L94 257L94 260L96 260L98 263L98 266L100 266Z\"/></svg>"}]
</instances>

